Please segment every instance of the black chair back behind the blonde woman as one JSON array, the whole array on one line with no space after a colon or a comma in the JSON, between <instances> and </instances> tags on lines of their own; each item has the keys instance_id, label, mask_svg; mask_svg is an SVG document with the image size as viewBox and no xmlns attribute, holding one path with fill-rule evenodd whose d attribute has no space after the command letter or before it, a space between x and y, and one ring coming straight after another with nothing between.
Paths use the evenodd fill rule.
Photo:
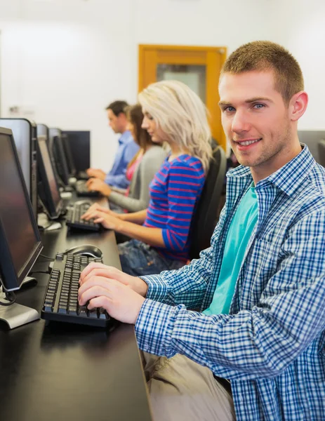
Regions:
<instances>
[{"instance_id":1,"label":"black chair back behind the blonde woman","mask_svg":"<svg viewBox=\"0 0 325 421\"><path fill-rule=\"evenodd\" d=\"M225 182L227 159L222 147L213 149L213 159L206 175L206 181L197 202L190 227L190 260L199 258L204 248L210 247L213 229L218 222L218 208Z\"/></svg>"}]
</instances>

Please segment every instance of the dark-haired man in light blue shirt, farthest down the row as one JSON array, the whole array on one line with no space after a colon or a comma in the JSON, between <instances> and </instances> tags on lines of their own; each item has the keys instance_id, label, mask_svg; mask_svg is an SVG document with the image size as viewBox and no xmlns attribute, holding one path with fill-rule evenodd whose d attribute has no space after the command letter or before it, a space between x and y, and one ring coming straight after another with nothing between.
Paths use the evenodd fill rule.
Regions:
<instances>
[{"instance_id":1,"label":"dark-haired man in light blue shirt, farthest down the row","mask_svg":"<svg viewBox=\"0 0 325 421\"><path fill-rule=\"evenodd\" d=\"M128 180L126 179L126 167L133 156L138 152L139 145L137 145L131 133L127 130L128 121L124 112L128 103L125 101L114 101L108 105L107 118L110 127L114 133L121 133L119 138L119 147L115 155L112 169L109 173L95 168L88 168L87 174L94 179L88 180L87 185L91 190L100 190L102 181L105 181L110 186L126 189L128 187Z\"/></svg>"}]
</instances>

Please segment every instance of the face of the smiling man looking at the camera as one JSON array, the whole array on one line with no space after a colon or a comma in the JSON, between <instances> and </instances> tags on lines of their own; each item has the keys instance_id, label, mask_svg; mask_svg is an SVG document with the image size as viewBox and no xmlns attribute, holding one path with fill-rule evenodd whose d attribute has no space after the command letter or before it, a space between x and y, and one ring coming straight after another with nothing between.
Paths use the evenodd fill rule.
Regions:
<instances>
[{"instance_id":1,"label":"face of the smiling man looking at the camera","mask_svg":"<svg viewBox=\"0 0 325 421\"><path fill-rule=\"evenodd\" d=\"M288 106L271 71L225 73L219 93L223 129L239 163L267 176L293 158Z\"/></svg>"}]
</instances>

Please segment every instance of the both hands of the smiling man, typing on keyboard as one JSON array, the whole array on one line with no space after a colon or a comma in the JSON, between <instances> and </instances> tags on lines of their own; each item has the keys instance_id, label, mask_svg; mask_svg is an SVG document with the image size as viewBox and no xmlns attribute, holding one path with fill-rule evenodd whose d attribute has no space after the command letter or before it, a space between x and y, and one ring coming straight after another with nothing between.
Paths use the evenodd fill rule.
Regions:
<instances>
[{"instance_id":1,"label":"both hands of the smiling man, typing on keyboard","mask_svg":"<svg viewBox=\"0 0 325 421\"><path fill-rule=\"evenodd\" d=\"M104 307L114 319L135 324L145 298L133 287L141 283L145 282L114 267L91 263L81 273L79 304L89 301L88 309Z\"/></svg>"}]
</instances>

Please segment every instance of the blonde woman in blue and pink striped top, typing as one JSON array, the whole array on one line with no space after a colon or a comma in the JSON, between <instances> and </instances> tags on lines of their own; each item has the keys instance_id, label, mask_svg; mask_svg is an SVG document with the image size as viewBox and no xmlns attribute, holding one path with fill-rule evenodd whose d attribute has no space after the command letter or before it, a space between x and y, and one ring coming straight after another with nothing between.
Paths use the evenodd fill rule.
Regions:
<instances>
[{"instance_id":1,"label":"blonde woman in blue and pink striped top, typing","mask_svg":"<svg viewBox=\"0 0 325 421\"><path fill-rule=\"evenodd\" d=\"M179 81L152 83L139 94L145 128L152 142L168 143L170 153L150 184L147 209L117 214L98 204L85 219L131 237L119 244L124 272L157 274L188 260L190 223L212 156L206 107Z\"/></svg>"}]
</instances>

